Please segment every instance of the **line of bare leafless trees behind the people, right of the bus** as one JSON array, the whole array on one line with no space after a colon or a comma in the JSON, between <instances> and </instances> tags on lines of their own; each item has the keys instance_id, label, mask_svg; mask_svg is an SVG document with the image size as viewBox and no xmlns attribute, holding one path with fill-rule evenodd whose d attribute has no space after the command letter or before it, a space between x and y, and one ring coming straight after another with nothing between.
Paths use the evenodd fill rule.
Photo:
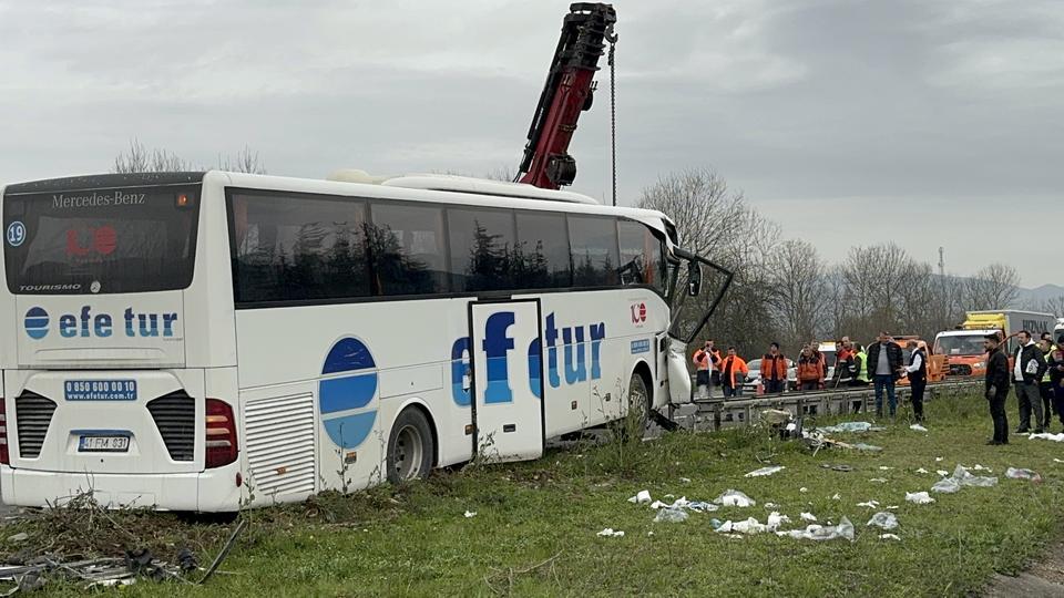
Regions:
<instances>
[{"instance_id":1,"label":"line of bare leafless trees behind the people, right of the bus","mask_svg":"<svg viewBox=\"0 0 1064 598\"><path fill-rule=\"evenodd\" d=\"M969 310L1024 307L1064 317L1064 297L1019 306L1020 276L1005 264L972 277L942 276L892 241L852 247L831 262L807 240L784 239L779 225L707 168L661 177L638 206L667 214L683 246L735 272L697 342L712 338L749 358L774 341L795 355L812 340L868 343L881 330L931 340ZM697 322L722 280L712 282L698 299L674 295L682 331Z\"/></svg>"}]
</instances>

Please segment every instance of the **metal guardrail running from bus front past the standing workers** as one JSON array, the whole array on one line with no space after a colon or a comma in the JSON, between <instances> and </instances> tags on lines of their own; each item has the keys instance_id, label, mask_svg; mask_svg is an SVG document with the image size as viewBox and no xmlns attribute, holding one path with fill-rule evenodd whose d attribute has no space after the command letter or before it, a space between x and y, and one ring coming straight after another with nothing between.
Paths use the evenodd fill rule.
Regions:
<instances>
[{"instance_id":1,"label":"metal guardrail running from bus front past the standing workers","mask_svg":"<svg viewBox=\"0 0 1064 598\"><path fill-rule=\"evenodd\" d=\"M924 402L939 396L971 392L982 388L983 384L984 382L980 379L929 383ZM899 409L908 402L910 393L911 389L908 385L896 388ZM886 396L883 399L886 402ZM757 399L714 398L696 400L694 405L697 408L695 427L717 431L749 425L757 421L761 411L767 409L789 411L795 417L874 413L876 391L869 385L858 389L759 395Z\"/></svg>"}]
</instances>

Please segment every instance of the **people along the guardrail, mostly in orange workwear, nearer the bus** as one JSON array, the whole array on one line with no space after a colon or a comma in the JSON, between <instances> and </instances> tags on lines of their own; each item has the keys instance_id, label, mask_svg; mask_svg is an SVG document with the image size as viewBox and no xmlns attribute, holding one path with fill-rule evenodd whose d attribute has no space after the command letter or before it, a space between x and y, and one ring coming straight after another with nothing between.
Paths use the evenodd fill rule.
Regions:
<instances>
[{"instance_id":1,"label":"people along the guardrail, mostly in orange workwear, nearer the bus","mask_svg":"<svg viewBox=\"0 0 1064 598\"><path fill-rule=\"evenodd\" d=\"M917 421L923 421L923 395L928 383L928 355L925 349L914 340L907 343L908 363L900 344L888 332L880 332L877 342L866 349L852 342L848 337L836 343L835 372L828 379L827 358L818 343L808 343L801 349L796 362L796 383L800 391L817 391L826 388L867 386L872 384L876 392L876 413L883 416L883 403L891 417L898 410L897 382L907 378L911 386L912 410ZM720 386L726 399L743 395L743 382L749 373L749 367L738 357L734 347L729 347L727 357L722 357L716 343L706 341L695 351L692 360L697 370L695 384L698 396L707 399L713 388ZM779 394L787 389L790 362L780 351L779 343L769 346L761 357L760 377L766 394Z\"/></svg>"}]
</instances>

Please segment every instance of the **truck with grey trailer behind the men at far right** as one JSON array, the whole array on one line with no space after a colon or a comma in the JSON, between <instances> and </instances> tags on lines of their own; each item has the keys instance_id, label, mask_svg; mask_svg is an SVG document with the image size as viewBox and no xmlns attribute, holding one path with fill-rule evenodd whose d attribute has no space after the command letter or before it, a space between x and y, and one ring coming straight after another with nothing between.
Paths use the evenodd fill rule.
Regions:
<instances>
[{"instance_id":1,"label":"truck with grey trailer behind the men at far right","mask_svg":"<svg viewBox=\"0 0 1064 598\"><path fill-rule=\"evenodd\" d=\"M934 353L945 355L948 374L951 377L981 377L986 373L986 354L983 338L994 332L1010 339L1009 353L1015 351L1013 337L1021 330L1031 332L1035 339L1043 332L1060 328L1052 313L999 309L991 311L969 311L965 320L955 330L945 330L934 337Z\"/></svg>"}]
</instances>

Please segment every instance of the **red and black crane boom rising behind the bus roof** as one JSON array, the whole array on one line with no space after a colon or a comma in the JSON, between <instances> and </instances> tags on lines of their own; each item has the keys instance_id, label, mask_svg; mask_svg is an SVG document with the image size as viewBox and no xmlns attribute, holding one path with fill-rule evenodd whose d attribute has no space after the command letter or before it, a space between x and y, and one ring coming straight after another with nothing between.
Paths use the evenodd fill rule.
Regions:
<instances>
[{"instance_id":1,"label":"red and black crane boom rising behind the bus roof","mask_svg":"<svg viewBox=\"0 0 1064 598\"><path fill-rule=\"evenodd\" d=\"M562 22L562 35L546 83L535 106L518 181L544 189L572 185L576 161L569 144L580 113L591 109L595 71L605 49L614 40L617 16L610 4L575 2Z\"/></svg>"}]
</instances>

